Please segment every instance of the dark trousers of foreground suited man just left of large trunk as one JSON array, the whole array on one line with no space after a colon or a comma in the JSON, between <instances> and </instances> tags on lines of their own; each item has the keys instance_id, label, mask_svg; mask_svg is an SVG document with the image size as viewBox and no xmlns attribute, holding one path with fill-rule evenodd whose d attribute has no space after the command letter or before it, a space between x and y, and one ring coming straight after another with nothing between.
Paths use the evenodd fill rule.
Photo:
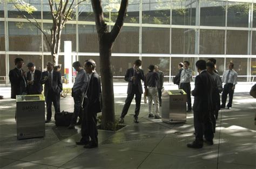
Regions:
<instances>
[{"instance_id":1,"label":"dark trousers of foreground suited man just left of large trunk","mask_svg":"<svg viewBox=\"0 0 256 169\"><path fill-rule=\"evenodd\" d=\"M97 113L91 112L86 99L83 103L83 120L81 125L82 138L80 142L98 145ZM91 140L90 140L91 138Z\"/></svg>"}]
</instances>

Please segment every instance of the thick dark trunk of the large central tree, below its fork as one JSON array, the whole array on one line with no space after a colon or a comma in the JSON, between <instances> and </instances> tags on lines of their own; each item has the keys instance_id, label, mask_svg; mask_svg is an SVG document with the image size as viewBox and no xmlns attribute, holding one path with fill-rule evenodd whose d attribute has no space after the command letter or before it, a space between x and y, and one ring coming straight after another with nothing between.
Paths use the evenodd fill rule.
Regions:
<instances>
[{"instance_id":1,"label":"thick dark trunk of the large central tree, below its fork","mask_svg":"<svg viewBox=\"0 0 256 169\"><path fill-rule=\"evenodd\" d=\"M114 123L113 72L111 67L112 44L109 39L99 39L99 67L102 82L102 128Z\"/></svg>"}]
</instances>

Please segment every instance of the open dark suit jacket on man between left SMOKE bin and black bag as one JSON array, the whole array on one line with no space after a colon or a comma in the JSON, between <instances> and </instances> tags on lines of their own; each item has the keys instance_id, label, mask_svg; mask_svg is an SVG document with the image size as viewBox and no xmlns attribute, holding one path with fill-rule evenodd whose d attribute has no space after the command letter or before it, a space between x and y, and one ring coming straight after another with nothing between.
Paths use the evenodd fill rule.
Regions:
<instances>
[{"instance_id":1,"label":"open dark suit jacket on man between left SMOKE bin and black bag","mask_svg":"<svg viewBox=\"0 0 256 169\"><path fill-rule=\"evenodd\" d=\"M47 97L49 90L48 79L44 80L44 77L48 76L48 71L42 73L41 84L44 84L44 96ZM52 90L56 95L59 95L62 91L62 76L60 72L53 71L52 73Z\"/></svg>"}]
</instances>

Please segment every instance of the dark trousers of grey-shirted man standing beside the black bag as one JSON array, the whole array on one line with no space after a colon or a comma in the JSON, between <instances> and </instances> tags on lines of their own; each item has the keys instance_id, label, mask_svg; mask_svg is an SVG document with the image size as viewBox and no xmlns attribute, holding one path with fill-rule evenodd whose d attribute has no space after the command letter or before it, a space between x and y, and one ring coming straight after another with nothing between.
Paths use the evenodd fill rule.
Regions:
<instances>
[{"instance_id":1,"label":"dark trousers of grey-shirted man standing beside the black bag","mask_svg":"<svg viewBox=\"0 0 256 169\"><path fill-rule=\"evenodd\" d=\"M74 100L74 113L71 120L71 125L75 125L77 123L77 117L79 116L79 120L82 119L83 109L82 109L82 93L80 91L76 91L73 93Z\"/></svg>"}]
</instances>

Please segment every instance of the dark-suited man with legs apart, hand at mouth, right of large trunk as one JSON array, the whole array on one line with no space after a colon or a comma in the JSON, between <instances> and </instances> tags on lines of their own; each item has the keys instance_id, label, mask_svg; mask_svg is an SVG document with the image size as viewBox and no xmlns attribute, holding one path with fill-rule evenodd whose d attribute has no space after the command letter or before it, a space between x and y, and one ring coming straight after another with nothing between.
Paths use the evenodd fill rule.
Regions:
<instances>
[{"instance_id":1,"label":"dark-suited man with legs apart, hand at mouth, right of large trunk","mask_svg":"<svg viewBox=\"0 0 256 169\"><path fill-rule=\"evenodd\" d=\"M139 123L138 121L138 115L139 115L139 109L140 109L140 101L142 100L142 80L144 81L145 75L143 72L143 69L140 69L139 67L142 65L141 60L136 60L133 63L133 67L130 69L127 69L125 74L125 81L128 83L128 89L127 89L127 98L125 100L124 108L122 110L122 115L119 119L119 123L124 123L124 117L127 114L129 107L131 105L132 99L135 95L135 101L136 101L136 108L135 108L135 114L134 114L134 123Z\"/></svg>"}]
</instances>

